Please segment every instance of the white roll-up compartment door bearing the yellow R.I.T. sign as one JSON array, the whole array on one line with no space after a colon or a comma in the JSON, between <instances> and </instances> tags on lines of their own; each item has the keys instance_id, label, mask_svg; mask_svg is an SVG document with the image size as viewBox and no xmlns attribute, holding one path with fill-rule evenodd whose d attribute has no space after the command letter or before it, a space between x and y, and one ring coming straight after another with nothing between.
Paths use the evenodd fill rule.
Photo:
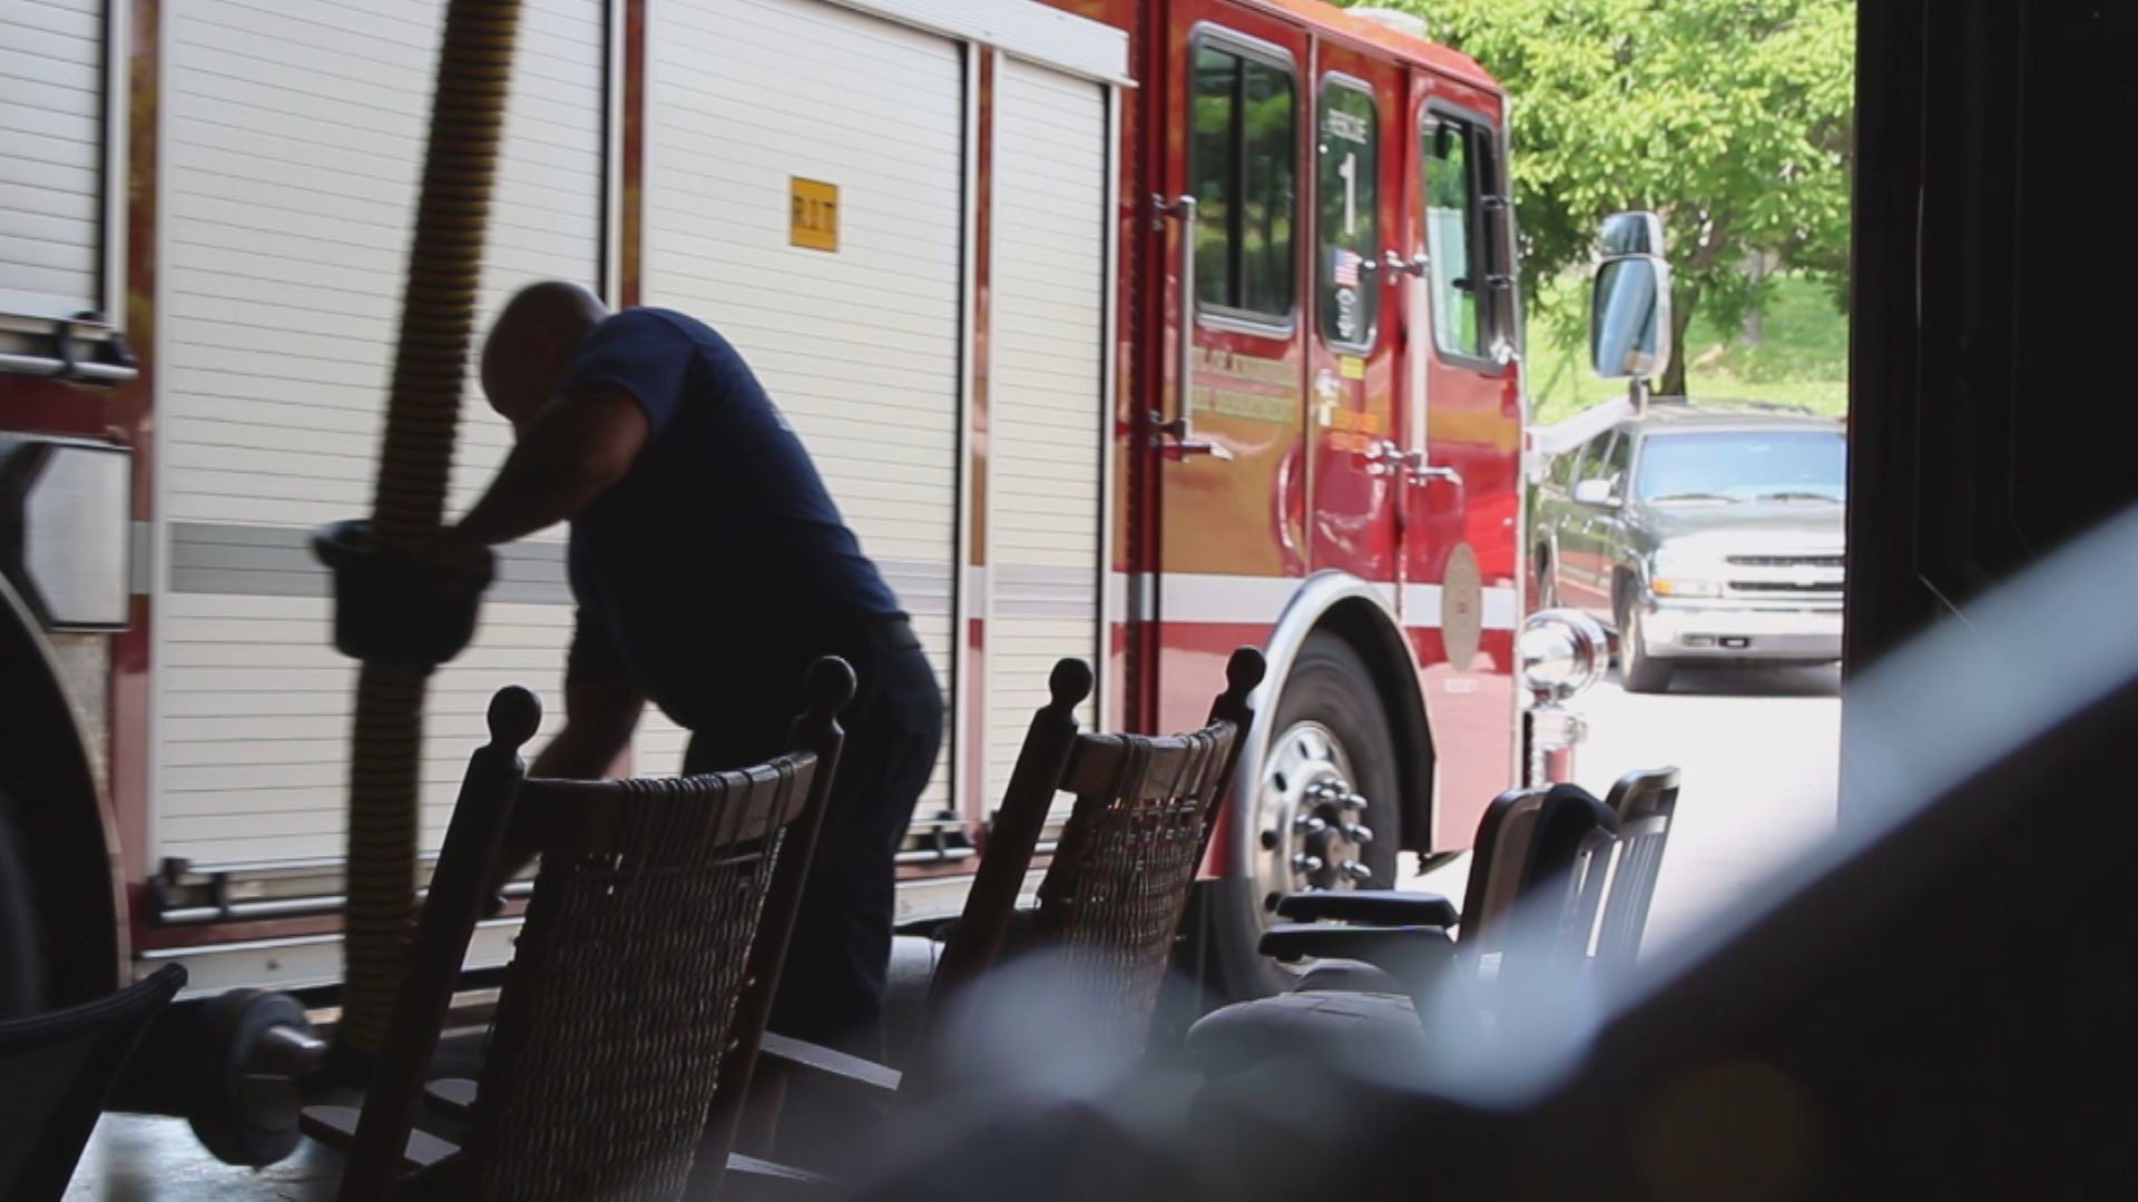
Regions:
<instances>
[{"instance_id":1,"label":"white roll-up compartment door bearing the yellow R.I.T. sign","mask_svg":"<svg viewBox=\"0 0 2138 1202\"><path fill-rule=\"evenodd\" d=\"M949 695L962 47L819 0L654 0L646 19L646 304L742 351ZM795 180L838 190L836 248L795 244ZM917 817L947 804L939 764Z\"/></svg>"}]
</instances>

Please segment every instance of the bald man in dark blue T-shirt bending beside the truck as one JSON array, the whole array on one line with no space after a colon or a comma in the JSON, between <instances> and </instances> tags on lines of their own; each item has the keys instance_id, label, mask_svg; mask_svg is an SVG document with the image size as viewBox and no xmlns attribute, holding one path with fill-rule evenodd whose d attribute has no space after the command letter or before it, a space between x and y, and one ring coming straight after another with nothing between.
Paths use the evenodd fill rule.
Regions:
<instances>
[{"instance_id":1,"label":"bald man in dark blue T-shirt bending beside the truck","mask_svg":"<svg viewBox=\"0 0 2138 1202\"><path fill-rule=\"evenodd\" d=\"M859 691L772 1027L881 1059L894 856L943 740L943 693L898 597L706 323L530 284L492 325L481 370L515 445L440 537L496 545L571 522L564 727L537 776L609 772L646 702L691 729L686 772L770 759L806 667L853 663Z\"/></svg>"}]
</instances>

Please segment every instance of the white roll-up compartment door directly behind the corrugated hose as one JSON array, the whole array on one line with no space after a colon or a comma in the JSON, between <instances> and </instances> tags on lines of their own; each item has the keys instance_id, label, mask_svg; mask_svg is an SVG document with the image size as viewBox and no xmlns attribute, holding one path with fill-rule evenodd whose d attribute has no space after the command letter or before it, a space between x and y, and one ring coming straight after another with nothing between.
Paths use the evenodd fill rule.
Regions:
<instances>
[{"instance_id":1,"label":"white roll-up compartment door directly behind the corrugated hose","mask_svg":"<svg viewBox=\"0 0 2138 1202\"><path fill-rule=\"evenodd\" d=\"M150 862L338 860L355 667L329 646L319 522L370 511L443 0L167 4L156 757ZM528 0L483 312L603 257L603 0ZM468 389L466 507L511 438ZM432 682L436 847L483 708L562 716L558 535L505 550L481 635Z\"/></svg>"}]
</instances>

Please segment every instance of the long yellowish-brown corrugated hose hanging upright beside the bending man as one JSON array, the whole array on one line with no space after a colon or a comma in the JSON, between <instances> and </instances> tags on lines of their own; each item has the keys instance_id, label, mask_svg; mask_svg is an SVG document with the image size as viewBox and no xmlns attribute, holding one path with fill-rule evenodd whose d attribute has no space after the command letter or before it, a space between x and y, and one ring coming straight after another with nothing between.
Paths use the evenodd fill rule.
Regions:
<instances>
[{"instance_id":1,"label":"long yellowish-brown corrugated hose hanging upright beside the bending man","mask_svg":"<svg viewBox=\"0 0 2138 1202\"><path fill-rule=\"evenodd\" d=\"M449 0L417 203L372 533L408 545L438 528L453 468L490 192L520 0ZM428 667L366 661L348 770L348 913L338 1048L385 1044L415 915Z\"/></svg>"}]
</instances>

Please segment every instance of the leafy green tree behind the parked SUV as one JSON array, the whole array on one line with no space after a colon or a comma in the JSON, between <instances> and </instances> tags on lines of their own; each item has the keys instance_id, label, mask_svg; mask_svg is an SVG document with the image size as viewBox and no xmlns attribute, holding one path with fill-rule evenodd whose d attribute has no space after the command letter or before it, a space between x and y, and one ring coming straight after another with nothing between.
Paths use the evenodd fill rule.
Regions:
<instances>
[{"instance_id":1,"label":"leafy green tree behind the parked SUV","mask_svg":"<svg viewBox=\"0 0 2138 1202\"><path fill-rule=\"evenodd\" d=\"M1507 88L1527 280L1586 263L1610 212L1663 216L1678 336L1663 394L1685 391L1695 310L1723 329L1764 310L1772 276L1745 269L1753 255L1843 302L1854 0L1379 2Z\"/></svg>"}]
</instances>

